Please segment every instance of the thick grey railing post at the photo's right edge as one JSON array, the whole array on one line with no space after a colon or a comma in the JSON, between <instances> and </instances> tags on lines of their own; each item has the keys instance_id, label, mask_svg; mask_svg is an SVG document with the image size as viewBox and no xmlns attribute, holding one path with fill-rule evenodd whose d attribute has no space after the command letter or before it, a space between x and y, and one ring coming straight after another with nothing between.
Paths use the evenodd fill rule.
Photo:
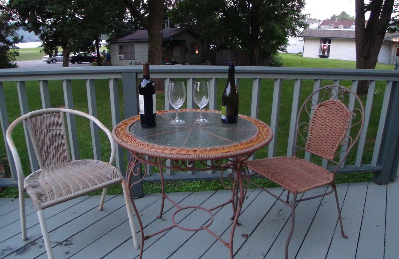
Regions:
<instances>
[{"instance_id":1,"label":"thick grey railing post at the photo's right edge","mask_svg":"<svg viewBox=\"0 0 399 259\"><path fill-rule=\"evenodd\" d=\"M387 184L394 181L398 170L399 157L399 82L394 83L388 105L382 137L378 164L382 166L381 172L374 173L373 181L377 184Z\"/></svg>"}]
</instances>

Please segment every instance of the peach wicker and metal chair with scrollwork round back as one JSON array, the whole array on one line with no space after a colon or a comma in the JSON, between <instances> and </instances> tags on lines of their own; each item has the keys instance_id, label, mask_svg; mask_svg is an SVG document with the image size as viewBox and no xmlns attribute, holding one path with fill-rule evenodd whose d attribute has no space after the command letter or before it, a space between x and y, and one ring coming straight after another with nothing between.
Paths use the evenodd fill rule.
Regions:
<instances>
[{"instance_id":1,"label":"peach wicker and metal chair with scrollwork round back","mask_svg":"<svg viewBox=\"0 0 399 259\"><path fill-rule=\"evenodd\" d=\"M344 103L348 103L348 106ZM285 245L286 259L288 259L288 245L294 230L295 206L298 202L322 197L334 191L341 234L344 238L348 238L342 226L334 175L358 140L364 124L362 101L353 91L338 85L326 86L312 93L305 100L298 114L294 156L271 157L246 162L248 169L288 191L287 199L283 200L250 180L263 191L291 207L291 230ZM301 155L304 159L297 158L295 155ZM325 159L322 161L323 167L309 161L317 156L319 162L320 157ZM332 172L326 169L329 162L335 165ZM326 185L331 185L332 189L313 197L297 199L300 193ZM290 193L293 195L291 202L289 201Z\"/></svg>"}]
</instances>

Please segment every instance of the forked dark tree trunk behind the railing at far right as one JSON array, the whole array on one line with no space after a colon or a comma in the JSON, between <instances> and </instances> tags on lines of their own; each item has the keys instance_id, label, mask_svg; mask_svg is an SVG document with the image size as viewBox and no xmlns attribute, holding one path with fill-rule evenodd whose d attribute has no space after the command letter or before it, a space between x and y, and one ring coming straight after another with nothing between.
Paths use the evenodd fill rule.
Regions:
<instances>
[{"instance_id":1,"label":"forked dark tree trunk behind the railing at far right","mask_svg":"<svg viewBox=\"0 0 399 259\"><path fill-rule=\"evenodd\" d=\"M374 0L369 5L370 16L365 25L364 0L355 1L356 68L374 69L391 20L394 0ZM357 93L366 95L368 81L359 81Z\"/></svg>"}]
</instances>

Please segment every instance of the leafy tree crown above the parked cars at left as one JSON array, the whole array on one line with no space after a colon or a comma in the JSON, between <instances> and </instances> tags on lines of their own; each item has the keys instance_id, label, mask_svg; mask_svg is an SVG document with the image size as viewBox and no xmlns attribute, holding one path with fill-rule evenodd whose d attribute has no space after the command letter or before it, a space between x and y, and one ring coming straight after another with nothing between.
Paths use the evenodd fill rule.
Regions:
<instances>
[{"instance_id":1,"label":"leafy tree crown above the parked cars at left","mask_svg":"<svg viewBox=\"0 0 399 259\"><path fill-rule=\"evenodd\" d=\"M39 35L47 54L63 49L70 52L92 51L93 42L123 20L122 0L10 0L9 6L20 26ZM112 24L112 26L109 26ZM120 24L120 23L119 23ZM63 66L68 66L65 58Z\"/></svg>"}]
</instances>

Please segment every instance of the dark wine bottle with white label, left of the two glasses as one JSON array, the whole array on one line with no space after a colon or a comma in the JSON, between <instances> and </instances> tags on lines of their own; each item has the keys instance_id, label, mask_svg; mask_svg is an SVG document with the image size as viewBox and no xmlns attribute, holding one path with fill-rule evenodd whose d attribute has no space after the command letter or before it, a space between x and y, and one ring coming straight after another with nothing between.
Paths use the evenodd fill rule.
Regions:
<instances>
[{"instance_id":1,"label":"dark wine bottle with white label, left of the two glasses","mask_svg":"<svg viewBox=\"0 0 399 259\"><path fill-rule=\"evenodd\" d=\"M157 125L155 85L150 79L150 63L143 63L143 80L139 87L139 112L140 124L144 128L151 128Z\"/></svg>"}]
</instances>

